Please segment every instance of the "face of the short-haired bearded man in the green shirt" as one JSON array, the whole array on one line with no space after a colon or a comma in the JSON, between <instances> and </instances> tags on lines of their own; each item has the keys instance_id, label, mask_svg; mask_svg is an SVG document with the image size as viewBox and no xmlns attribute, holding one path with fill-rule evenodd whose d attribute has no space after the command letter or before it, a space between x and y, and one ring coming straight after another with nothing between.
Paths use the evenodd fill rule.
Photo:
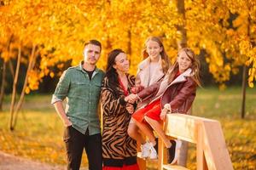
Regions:
<instances>
[{"instance_id":1,"label":"face of the short-haired bearded man in the green shirt","mask_svg":"<svg viewBox=\"0 0 256 170\"><path fill-rule=\"evenodd\" d=\"M84 48L84 62L90 65L96 65L100 58L101 48L94 44L88 44Z\"/></svg>"}]
</instances>

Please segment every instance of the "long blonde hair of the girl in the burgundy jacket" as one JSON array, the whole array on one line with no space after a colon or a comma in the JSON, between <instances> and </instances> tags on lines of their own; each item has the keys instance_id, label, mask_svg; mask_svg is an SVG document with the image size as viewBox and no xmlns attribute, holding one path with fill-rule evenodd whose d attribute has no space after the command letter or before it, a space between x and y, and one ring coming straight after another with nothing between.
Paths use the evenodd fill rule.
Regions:
<instances>
[{"instance_id":1,"label":"long blonde hair of the girl in the burgundy jacket","mask_svg":"<svg viewBox=\"0 0 256 170\"><path fill-rule=\"evenodd\" d=\"M178 53L177 53L177 57L179 56L179 54L181 54L182 52L184 52L189 59L191 59L191 66L190 69L192 70L192 78L194 79L194 81L196 82L196 84L198 86L201 86L201 81L200 81L200 77L199 77L199 71L200 71L200 61L199 59L195 56L195 53L192 51L192 49L190 48L181 48ZM174 64L172 65L172 67L170 68L170 70L168 71L168 77L169 77L169 81L168 82L172 82L175 75L177 74L178 71L178 64L177 64L177 59L174 62Z\"/></svg>"}]
</instances>

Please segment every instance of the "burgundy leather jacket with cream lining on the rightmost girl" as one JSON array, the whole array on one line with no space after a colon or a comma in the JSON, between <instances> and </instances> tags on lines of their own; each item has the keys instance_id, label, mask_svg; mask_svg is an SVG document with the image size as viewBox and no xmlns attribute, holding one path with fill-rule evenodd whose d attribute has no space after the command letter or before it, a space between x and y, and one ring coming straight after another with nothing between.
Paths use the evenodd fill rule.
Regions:
<instances>
[{"instance_id":1,"label":"burgundy leather jacket with cream lining on the rightmost girl","mask_svg":"<svg viewBox=\"0 0 256 170\"><path fill-rule=\"evenodd\" d=\"M162 82L156 82L137 95L143 101L149 99L149 103L160 99L162 109L164 105L170 104L172 112L187 114L195 99L197 88L196 82L190 77L190 72L191 70L188 69L166 86L161 86L165 79Z\"/></svg>"}]
</instances>

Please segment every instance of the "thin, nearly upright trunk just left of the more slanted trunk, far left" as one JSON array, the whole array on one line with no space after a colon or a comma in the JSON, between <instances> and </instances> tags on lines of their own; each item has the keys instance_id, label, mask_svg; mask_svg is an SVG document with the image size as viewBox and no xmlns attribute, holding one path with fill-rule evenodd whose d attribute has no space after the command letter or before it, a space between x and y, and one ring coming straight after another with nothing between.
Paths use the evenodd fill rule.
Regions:
<instances>
[{"instance_id":1,"label":"thin, nearly upright trunk just left of the more slanted trunk, far left","mask_svg":"<svg viewBox=\"0 0 256 170\"><path fill-rule=\"evenodd\" d=\"M21 58L21 44L19 47L19 54L18 54L18 59L17 59L16 71L15 71L15 80L14 80L14 84L13 84L12 100L11 100L11 105L10 105L9 129L11 131L14 130L13 118L14 118L14 111L15 111L16 85L18 82L19 71L20 71L20 58Z\"/></svg>"}]
</instances>

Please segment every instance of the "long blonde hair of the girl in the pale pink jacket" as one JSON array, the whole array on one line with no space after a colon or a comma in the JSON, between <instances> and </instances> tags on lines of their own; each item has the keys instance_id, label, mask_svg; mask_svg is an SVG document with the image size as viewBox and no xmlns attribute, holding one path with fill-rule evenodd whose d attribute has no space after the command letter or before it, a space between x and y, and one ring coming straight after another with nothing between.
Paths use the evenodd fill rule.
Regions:
<instances>
[{"instance_id":1,"label":"long blonde hair of the girl in the pale pink jacket","mask_svg":"<svg viewBox=\"0 0 256 170\"><path fill-rule=\"evenodd\" d=\"M166 74L166 72L168 71L169 66L170 66L170 60L169 60L168 55L166 54L164 44L163 44L163 42L161 42L160 37L148 37L147 38L146 42L144 43L143 59L146 59L149 56L149 54L147 52L147 43L150 40L154 41L154 42L158 42L160 48L162 48L162 51L160 52L160 56L161 56L161 59L162 59L161 65L162 65L163 72Z\"/></svg>"}]
</instances>

